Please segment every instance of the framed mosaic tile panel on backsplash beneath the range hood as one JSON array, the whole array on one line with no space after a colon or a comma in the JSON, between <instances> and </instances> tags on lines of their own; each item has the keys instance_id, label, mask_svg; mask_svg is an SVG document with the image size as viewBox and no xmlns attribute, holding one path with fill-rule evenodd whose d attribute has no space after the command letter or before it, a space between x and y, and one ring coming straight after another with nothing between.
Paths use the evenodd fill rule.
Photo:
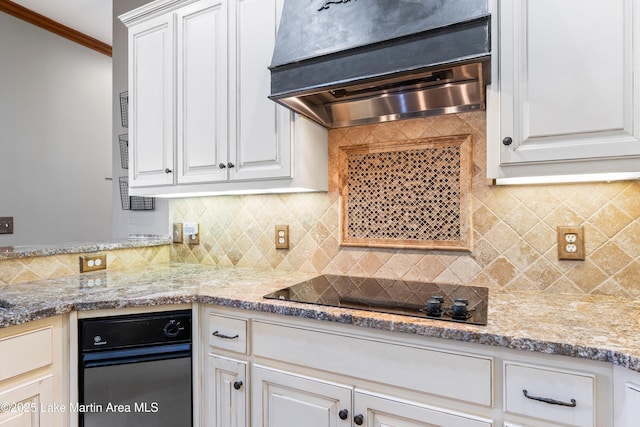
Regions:
<instances>
[{"instance_id":1,"label":"framed mosaic tile panel on backsplash beneath the range hood","mask_svg":"<svg viewBox=\"0 0 640 427\"><path fill-rule=\"evenodd\" d=\"M340 243L470 251L471 139L343 147Z\"/></svg>"}]
</instances>

